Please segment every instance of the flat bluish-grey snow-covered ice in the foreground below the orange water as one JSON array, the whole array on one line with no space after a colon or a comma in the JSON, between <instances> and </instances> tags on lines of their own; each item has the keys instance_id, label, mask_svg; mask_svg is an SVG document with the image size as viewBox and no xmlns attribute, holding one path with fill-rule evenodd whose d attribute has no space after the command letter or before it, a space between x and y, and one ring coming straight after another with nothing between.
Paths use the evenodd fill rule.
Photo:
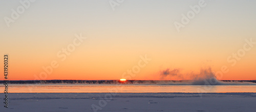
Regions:
<instances>
[{"instance_id":1,"label":"flat bluish-grey snow-covered ice in the foreground below the orange water","mask_svg":"<svg viewBox=\"0 0 256 112\"><path fill-rule=\"evenodd\" d=\"M93 111L92 105L98 108L97 111L256 110L256 93L14 93L8 95L8 108L2 103L1 111ZM4 94L0 96L4 97Z\"/></svg>"}]
</instances>

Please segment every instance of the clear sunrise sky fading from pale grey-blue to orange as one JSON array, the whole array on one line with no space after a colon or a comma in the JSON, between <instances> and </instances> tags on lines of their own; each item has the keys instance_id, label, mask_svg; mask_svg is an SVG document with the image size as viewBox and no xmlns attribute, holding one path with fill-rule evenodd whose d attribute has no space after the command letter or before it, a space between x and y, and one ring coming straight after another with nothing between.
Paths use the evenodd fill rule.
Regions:
<instances>
[{"instance_id":1,"label":"clear sunrise sky fading from pale grey-blue to orange","mask_svg":"<svg viewBox=\"0 0 256 112\"><path fill-rule=\"evenodd\" d=\"M219 80L256 80L255 5L1 1L2 62L8 54L8 80L190 80L209 68Z\"/></svg>"}]
</instances>

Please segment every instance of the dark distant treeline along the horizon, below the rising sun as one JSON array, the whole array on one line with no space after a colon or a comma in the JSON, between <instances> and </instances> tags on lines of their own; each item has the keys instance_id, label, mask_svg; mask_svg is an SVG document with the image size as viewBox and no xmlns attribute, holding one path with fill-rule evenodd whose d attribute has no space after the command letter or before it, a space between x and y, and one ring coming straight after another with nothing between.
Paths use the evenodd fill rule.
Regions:
<instances>
[{"instance_id":1,"label":"dark distant treeline along the horizon, below the rising sun","mask_svg":"<svg viewBox=\"0 0 256 112\"><path fill-rule=\"evenodd\" d=\"M183 80L185 81L185 80ZM9 84L158 84L159 82L183 82L172 80L10 80ZM187 81L187 80L186 80ZM222 80L223 82L253 82L256 80ZM5 83L0 80L0 83Z\"/></svg>"}]
</instances>

